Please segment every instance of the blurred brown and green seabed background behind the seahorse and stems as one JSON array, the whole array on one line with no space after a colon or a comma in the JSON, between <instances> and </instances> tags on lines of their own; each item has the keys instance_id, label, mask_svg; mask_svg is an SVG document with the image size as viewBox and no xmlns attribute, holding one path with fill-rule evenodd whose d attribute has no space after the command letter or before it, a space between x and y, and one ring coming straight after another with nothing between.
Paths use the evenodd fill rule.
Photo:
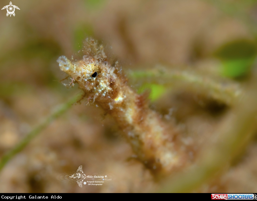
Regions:
<instances>
[{"instance_id":1,"label":"blurred brown and green seabed background behind the seahorse and stems","mask_svg":"<svg viewBox=\"0 0 257 201\"><path fill-rule=\"evenodd\" d=\"M71 58L87 36L107 42L124 70L162 63L191 66L247 82L256 58L257 1L54 0L12 1L0 12L0 156L12 149L54 106L79 93L59 82L56 60ZM0 7L9 5L1 1ZM149 84L149 83L148 83ZM153 87L155 86L155 87ZM157 87L157 89L156 89ZM159 91L159 86L150 88ZM164 93L151 107L171 115L197 151L222 122L229 105L188 92ZM225 173L196 192L257 192L253 140ZM110 116L74 105L34 138L0 172L0 192L147 192L158 187ZM79 188L56 177L107 172L115 179Z\"/></svg>"}]
</instances>

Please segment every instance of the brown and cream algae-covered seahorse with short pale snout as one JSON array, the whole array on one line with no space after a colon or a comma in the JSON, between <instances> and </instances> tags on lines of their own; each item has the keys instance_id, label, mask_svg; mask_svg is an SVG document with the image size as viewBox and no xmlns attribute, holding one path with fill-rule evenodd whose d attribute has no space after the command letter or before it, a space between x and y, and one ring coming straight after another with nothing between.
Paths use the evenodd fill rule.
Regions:
<instances>
[{"instance_id":1,"label":"brown and cream algae-covered seahorse with short pale snout","mask_svg":"<svg viewBox=\"0 0 257 201\"><path fill-rule=\"evenodd\" d=\"M162 122L149 109L146 97L126 84L117 63L111 66L103 46L86 39L82 51L84 56L78 61L59 57L60 69L78 82L89 102L114 117L137 158L155 173L165 174L184 165L187 154L174 141L175 128Z\"/></svg>"}]
</instances>

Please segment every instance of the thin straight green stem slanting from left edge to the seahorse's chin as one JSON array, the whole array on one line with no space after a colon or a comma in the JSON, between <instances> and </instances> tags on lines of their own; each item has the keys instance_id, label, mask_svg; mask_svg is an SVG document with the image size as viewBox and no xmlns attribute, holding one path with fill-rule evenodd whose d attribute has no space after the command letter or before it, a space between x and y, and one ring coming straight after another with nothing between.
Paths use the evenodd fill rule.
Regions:
<instances>
[{"instance_id":1,"label":"thin straight green stem slanting from left edge to the seahorse's chin","mask_svg":"<svg viewBox=\"0 0 257 201\"><path fill-rule=\"evenodd\" d=\"M35 127L31 132L29 132L26 137L24 137L13 149L9 150L6 154L4 154L0 161L0 171L6 165L8 161L10 161L16 154L22 151L28 143L35 138L41 131L43 131L54 119L57 119L64 112L66 112L73 104L75 104L78 100L81 100L84 97L84 94L77 94L72 97L69 101L64 104L59 105L54 112L47 117L42 123L40 123L37 127Z\"/></svg>"}]
</instances>

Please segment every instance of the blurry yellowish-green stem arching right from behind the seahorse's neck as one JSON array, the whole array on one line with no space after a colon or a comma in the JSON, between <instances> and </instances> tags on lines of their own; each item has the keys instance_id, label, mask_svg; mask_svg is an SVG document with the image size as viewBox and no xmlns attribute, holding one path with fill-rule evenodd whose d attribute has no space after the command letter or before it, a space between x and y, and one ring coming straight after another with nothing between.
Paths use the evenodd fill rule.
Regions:
<instances>
[{"instance_id":1,"label":"blurry yellowish-green stem arching right from behind the seahorse's neck","mask_svg":"<svg viewBox=\"0 0 257 201\"><path fill-rule=\"evenodd\" d=\"M165 66L164 66L165 67ZM192 70L144 70L130 71L128 73L132 82L155 83L172 89L188 90L193 93L201 93L228 105L233 105L242 97L242 89L236 82L222 78L192 72ZM141 83L140 83L141 82ZM135 82L136 83L136 82Z\"/></svg>"}]
</instances>

